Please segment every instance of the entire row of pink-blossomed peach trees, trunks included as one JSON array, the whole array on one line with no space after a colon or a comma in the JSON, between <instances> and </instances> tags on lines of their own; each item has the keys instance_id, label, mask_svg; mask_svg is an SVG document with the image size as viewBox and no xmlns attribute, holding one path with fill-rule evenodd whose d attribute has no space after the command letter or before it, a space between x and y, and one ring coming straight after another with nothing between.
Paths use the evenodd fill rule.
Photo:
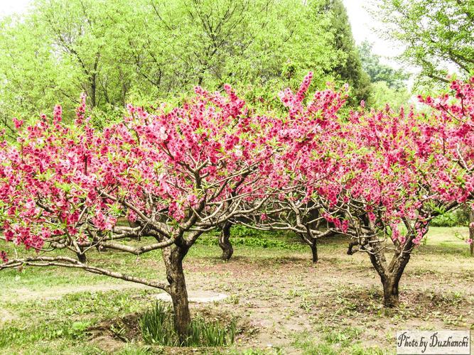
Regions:
<instances>
[{"instance_id":1,"label":"entire row of pink-blossomed peach trees, trunks included","mask_svg":"<svg viewBox=\"0 0 474 355\"><path fill-rule=\"evenodd\" d=\"M431 219L472 208L474 77L419 97L429 113L348 111L347 87L306 97L312 79L279 93L284 113L255 109L226 84L224 93L196 87L178 106L129 105L104 129L92 126L85 96L73 124L61 107L30 124L14 119L18 139L0 146L2 239L37 254L2 252L0 269L62 266L159 288L184 338L183 258L206 231L242 223L294 231L313 252L321 237L347 236L348 253L367 253L384 305L396 307ZM167 282L92 265L92 249L161 249Z\"/></svg>"}]
</instances>

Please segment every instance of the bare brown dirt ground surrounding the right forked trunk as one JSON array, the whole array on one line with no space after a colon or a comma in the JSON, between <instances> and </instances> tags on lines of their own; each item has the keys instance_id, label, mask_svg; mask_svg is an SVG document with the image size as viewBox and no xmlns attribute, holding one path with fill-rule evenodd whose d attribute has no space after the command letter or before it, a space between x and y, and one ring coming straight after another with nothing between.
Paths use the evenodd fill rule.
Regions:
<instances>
[{"instance_id":1,"label":"bare brown dirt ground surrounding the right forked trunk","mask_svg":"<svg viewBox=\"0 0 474 355\"><path fill-rule=\"evenodd\" d=\"M474 262L446 261L431 268L429 258L414 256L401 281L400 309L386 310L380 280L367 259L323 256L313 264L295 254L264 265L242 256L193 267L188 285L230 293L231 302L219 307L252 319L259 329L254 345L295 354L292 334L305 330L318 338L328 329L356 328L363 346L394 350L397 330L474 328Z\"/></svg>"}]
</instances>

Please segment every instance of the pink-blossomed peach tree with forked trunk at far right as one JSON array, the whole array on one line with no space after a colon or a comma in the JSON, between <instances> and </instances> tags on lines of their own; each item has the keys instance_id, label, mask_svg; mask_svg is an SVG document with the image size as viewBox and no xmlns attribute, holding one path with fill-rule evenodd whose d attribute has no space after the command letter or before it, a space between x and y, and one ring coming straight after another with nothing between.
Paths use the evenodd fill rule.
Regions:
<instances>
[{"instance_id":1,"label":"pink-blossomed peach tree with forked trunk at far right","mask_svg":"<svg viewBox=\"0 0 474 355\"><path fill-rule=\"evenodd\" d=\"M431 219L472 207L473 84L453 82L451 94L420 97L429 114L352 112L340 131L345 169L333 192L319 191L316 200L328 222L352 238L348 254L370 256L387 307L399 304L399 280Z\"/></svg>"}]
</instances>

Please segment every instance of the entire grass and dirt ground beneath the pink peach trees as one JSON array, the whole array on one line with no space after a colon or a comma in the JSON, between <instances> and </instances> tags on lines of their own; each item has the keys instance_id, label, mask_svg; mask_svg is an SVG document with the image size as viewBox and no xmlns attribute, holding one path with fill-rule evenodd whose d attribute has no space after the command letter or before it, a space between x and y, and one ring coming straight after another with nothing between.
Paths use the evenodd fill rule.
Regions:
<instances>
[{"instance_id":1,"label":"entire grass and dirt ground beneath the pink peach trees","mask_svg":"<svg viewBox=\"0 0 474 355\"><path fill-rule=\"evenodd\" d=\"M387 349L394 349L397 329L414 324L419 329L474 329L474 258L453 235L467 228L430 229L402 278L398 310L382 307L377 273L365 254L345 254L348 239L343 236L318 241L321 262L313 264L308 246L292 234L235 229L230 262L220 260L220 231L198 239L184 261L190 290L230 295L220 305L209 305L209 311L194 305L191 311L218 320L221 328L229 327L227 315L235 315L235 344L225 349L146 344L139 319L154 305L158 291L127 288L122 281L84 271L25 267L0 272L0 354L392 354ZM6 247L15 255L14 244ZM18 257L28 253L18 249ZM94 250L89 261L166 279L161 251L136 257ZM294 330L280 325L294 322L303 325ZM307 327L311 331L302 334ZM291 340L281 340L288 332Z\"/></svg>"}]
</instances>

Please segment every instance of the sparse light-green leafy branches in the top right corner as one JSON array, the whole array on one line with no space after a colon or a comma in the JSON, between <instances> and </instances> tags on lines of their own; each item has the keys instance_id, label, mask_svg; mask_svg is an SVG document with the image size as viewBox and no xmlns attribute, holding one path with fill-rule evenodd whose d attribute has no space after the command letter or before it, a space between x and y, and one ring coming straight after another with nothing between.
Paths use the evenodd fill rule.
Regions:
<instances>
[{"instance_id":1,"label":"sparse light-green leafy branches in the top right corner","mask_svg":"<svg viewBox=\"0 0 474 355\"><path fill-rule=\"evenodd\" d=\"M474 70L474 0L378 0L373 10L390 38L404 45L400 59L421 68L419 84L449 82Z\"/></svg>"}]
</instances>

